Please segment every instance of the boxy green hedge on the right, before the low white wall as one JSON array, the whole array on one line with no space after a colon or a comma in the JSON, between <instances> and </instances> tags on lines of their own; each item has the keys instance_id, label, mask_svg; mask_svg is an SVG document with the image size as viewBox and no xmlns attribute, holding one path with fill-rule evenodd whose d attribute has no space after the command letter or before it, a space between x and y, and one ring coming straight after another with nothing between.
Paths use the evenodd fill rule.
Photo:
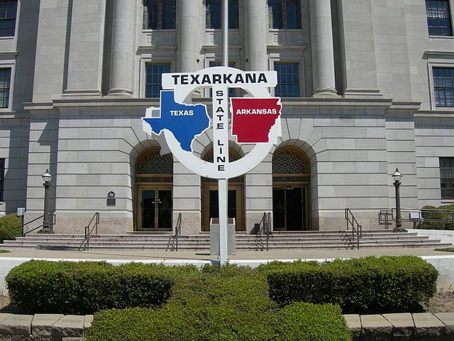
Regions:
<instances>
[{"instance_id":1,"label":"boxy green hedge on the right, before the low white wall","mask_svg":"<svg viewBox=\"0 0 454 341\"><path fill-rule=\"evenodd\" d=\"M417 311L436 293L438 271L414 256L382 256L259 267L279 305L332 303L343 313Z\"/></svg>"}]
</instances>

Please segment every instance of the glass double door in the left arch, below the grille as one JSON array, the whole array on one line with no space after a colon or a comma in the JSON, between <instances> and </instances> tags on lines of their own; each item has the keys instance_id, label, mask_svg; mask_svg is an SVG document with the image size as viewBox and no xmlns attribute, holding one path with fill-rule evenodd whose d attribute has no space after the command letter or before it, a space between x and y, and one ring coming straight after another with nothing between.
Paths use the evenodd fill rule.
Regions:
<instances>
[{"instance_id":1,"label":"glass double door in the left arch, below the grille","mask_svg":"<svg viewBox=\"0 0 454 341\"><path fill-rule=\"evenodd\" d=\"M138 231L172 231L172 190L138 188Z\"/></svg>"}]
</instances>

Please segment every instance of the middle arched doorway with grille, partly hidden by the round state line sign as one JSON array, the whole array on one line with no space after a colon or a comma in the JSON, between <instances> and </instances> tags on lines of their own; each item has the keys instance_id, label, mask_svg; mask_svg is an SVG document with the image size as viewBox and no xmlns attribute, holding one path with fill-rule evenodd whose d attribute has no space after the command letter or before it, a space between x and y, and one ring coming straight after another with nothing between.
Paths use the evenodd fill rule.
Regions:
<instances>
[{"instance_id":1,"label":"middle arched doorway with grille, partly hidden by the round state line sign","mask_svg":"<svg viewBox=\"0 0 454 341\"><path fill-rule=\"evenodd\" d=\"M237 161L240 154L233 148L228 150L229 162ZM204 161L213 162L213 149L205 154ZM201 178L201 230L209 232L210 219L219 217L218 180ZM244 176L228 180L227 215L235 218L236 231L245 231L244 224Z\"/></svg>"}]
</instances>

